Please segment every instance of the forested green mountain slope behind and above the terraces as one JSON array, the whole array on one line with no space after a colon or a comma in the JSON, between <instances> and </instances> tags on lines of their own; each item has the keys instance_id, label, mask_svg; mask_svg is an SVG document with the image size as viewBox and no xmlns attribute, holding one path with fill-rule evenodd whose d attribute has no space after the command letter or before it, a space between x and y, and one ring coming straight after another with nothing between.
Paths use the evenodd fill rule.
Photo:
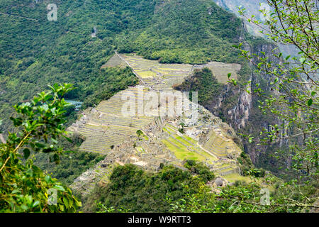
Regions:
<instances>
[{"instance_id":1,"label":"forested green mountain slope behind and above the terraces","mask_svg":"<svg viewBox=\"0 0 319 227\"><path fill-rule=\"evenodd\" d=\"M57 21L47 20L48 4ZM240 20L212 1L0 1L0 116L47 84L71 82L84 107L136 84L130 70L101 66L119 52L161 62L234 62ZM96 35L92 35L96 29Z\"/></svg>"}]
</instances>

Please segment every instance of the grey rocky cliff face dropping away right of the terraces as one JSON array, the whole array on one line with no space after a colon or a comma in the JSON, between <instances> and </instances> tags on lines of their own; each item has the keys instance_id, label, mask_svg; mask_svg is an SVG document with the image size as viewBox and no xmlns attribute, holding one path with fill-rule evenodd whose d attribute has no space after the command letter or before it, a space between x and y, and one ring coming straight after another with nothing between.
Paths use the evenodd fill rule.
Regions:
<instances>
[{"instance_id":1,"label":"grey rocky cliff face dropping away right of the terraces","mask_svg":"<svg viewBox=\"0 0 319 227\"><path fill-rule=\"evenodd\" d=\"M274 53L278 53L278 50L274 50L276 45L267 43L259 38L247 42L245 41L245 37L243 37L241 41L244 43L245 50L257 56L264 57L266 55L269 57L269 61L276 61L275 57L273 57ZM253 61L257 63L257 57ZM262 128L271 130L269 125L279 122L272 117L262 115L258 108L259 97L245 92L246 89L251 92L252 89L256 88L257 83L260 84L262 89L269 90L271 76L269 74L254 72L252 64L245 67L246 69L242 69L245 70L242 73L245 74L245 77L241 75L241 79L245 82L251 81L250 85L234 87L232 84L225 84L223 85L222 92L210 99L204 106L214 115L223 118L223 121L227 122L232 128L235 128L237 133L251 134L257 138ZM267 150L269 150L269 147L266 145L252 145L247 143L246 140L242 140L242 143L245 152L250 155L254 164L258 164L260 155L267 153ZM279 145L284 144L284 142L281 142Z\"/></svg>"}]
</instances>

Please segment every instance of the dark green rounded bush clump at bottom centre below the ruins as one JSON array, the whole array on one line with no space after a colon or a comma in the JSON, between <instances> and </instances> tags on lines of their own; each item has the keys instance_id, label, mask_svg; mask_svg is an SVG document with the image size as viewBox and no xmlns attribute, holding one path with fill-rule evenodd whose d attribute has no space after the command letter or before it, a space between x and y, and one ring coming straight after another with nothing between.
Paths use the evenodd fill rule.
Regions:
<instances>
[{"instance_id":1,"label":"dark green rounded bush clump at bottom centre below the ruins","mask_svg":"<svg viewBox=\"0 0 319 227\"><path fill-rule=\"evenodd\" d=\"M84 211L167 212L172 200L179 201L186 192L197 193L199 184L214 178L213 172L201 163L189 161L186 167L191 171L163 166L159 172L151 173L135 165L116 167L110 183L96 186L85 199Z\"/></svg>"}]
</instances>

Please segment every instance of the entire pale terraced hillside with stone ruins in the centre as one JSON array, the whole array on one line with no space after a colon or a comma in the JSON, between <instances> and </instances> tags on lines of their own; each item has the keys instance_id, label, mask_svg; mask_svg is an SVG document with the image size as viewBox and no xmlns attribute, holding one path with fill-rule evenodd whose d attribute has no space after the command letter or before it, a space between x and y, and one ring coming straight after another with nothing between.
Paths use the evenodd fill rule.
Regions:
<instances>
[{"instance_id":1,"label":"entire pale terraced hillside with stone ruins in the centre","mask_svg":"<svg viewBox=\"0 0 319 227\"><path fill-rule=\"evenodd\" d=\"M86 111L82 118L69 128L70 131L86 137L80 150L108 153L108 156L112 154L117 157L116 162L120 165L133 163L147 170L157 170L162 162L170 162L183 168L183 160L198 160L205 162L220 176L239 176L235 159L241 150L233 142L232 136L228 135L231 128L209 111L200 106L196 122L189 121L185 113L179 117L158 118L159 110L145 111L145 105L149 101L149 97L145 94L155 92L158 99L159 92L172 90L174 82L182 82L184 77L192 74L198 67L209 66L215 69L222 79L223 74L227 77L225 72L230 72L231 67L227 68L230 64L218 62L209 62L206 65L161 64L156 60L145 60L138 55L119 55L116 52L116 55L103 67L124 67L124 65L132 68L142 85L130 87L112 96L111 99L102 101L96 108ZM233 72L240 70L240 66L232 66ZM158 106L163 107L160 99L157 101L159 101ZM174 107L176 102L177 100L173 99ZM169 108L167 101L165 105L167 111ZM133 110L129 106L132 106ZM138 111L140 107L145 112L140 113ZM184 132L179 131L182 122L186 123ZM142 135L138 136L139 130L142 130ZM130 142L133 140L134 143Z\"/></svg>"}]
</instances>

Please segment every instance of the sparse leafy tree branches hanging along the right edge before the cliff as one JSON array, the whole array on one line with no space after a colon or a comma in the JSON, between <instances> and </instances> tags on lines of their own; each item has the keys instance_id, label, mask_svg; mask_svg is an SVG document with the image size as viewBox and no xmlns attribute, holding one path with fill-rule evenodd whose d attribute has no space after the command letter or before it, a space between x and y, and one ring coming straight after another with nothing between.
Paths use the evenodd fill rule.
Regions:
<instances>
[{"instance_id":1,"label":"sparse leafy tree branches hanging along the right edge before the cliff","mask_svg":"<svg viewBox=\"0 0 319 227\"><path fill-rule=\"evenodd\" d=\"M298 179L316 179L318 176L318 10L313 1L267 1L273 11L262 11L267 20L262 23L249 21L262 28L277 43L292 44L300 50L301 57L282 57L274 52L276 62L269 57L250 55L242 51L242 57L250 60L259 73L272 76L271 94L258 84L253 93L264 98L259 108L264 114L271 113L280 124L260 133L262 142L276 143L289 140L291 167L298 172ZM245 9L240 13L244 14ZM253 16L252 16L253 17ZM241 46L241 45L240 45ZM240 48L240 46L238 48ZM258 60L258 64L252 59Z\"/></svg>"}]
</instances>

